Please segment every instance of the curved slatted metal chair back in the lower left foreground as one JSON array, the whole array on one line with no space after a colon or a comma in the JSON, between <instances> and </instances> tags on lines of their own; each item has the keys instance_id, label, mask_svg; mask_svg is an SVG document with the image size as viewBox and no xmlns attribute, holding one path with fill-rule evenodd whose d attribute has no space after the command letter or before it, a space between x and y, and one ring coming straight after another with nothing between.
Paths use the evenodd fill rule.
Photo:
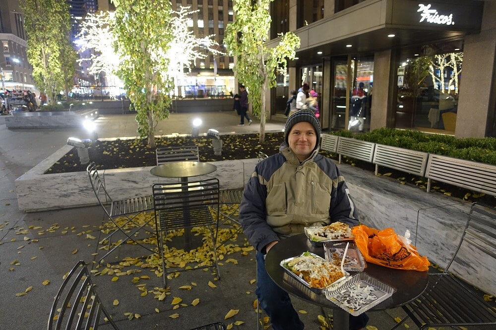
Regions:
<instances>
[{"instance_id":1,"label":"curved slatted metal chair back in the lower left foreground","mask_svg":"<svg viewBox=\"0 0 496 330\"><path fill-rule=\"evenodd\" d=\"M60 312L56 315L58 310ZM97 329L100 323L106 323L101 320L102 312L112 328L118 330L95 290L86 264L81 260L69 272L55 296L47 329Z\"/></svg>"}]
</instances>

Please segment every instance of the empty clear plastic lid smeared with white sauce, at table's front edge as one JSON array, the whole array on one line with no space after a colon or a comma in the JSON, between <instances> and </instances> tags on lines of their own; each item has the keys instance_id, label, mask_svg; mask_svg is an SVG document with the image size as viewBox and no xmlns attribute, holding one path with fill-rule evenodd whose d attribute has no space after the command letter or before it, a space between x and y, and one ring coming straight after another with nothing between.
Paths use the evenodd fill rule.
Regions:
<instances>
[{"instance_id":1,"label":"empty clear plastic lid smeared with white sauce, at table's front edge","mask_svg":"<svg viewBox=\"0 0 496 330\"><path fill-rule=\"evenodd\" d=\"M358 273L341 285L324 290L324 294L343 310L359 316L389 298L395 291L395 288L366 273Z\"/></svg>"}]
</instances>

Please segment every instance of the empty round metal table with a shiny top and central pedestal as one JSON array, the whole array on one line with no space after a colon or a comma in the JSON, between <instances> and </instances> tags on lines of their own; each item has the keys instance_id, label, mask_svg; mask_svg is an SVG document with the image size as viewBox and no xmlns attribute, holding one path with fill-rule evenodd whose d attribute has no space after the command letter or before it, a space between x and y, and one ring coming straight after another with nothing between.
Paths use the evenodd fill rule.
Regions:
<instances>
[{"instance_id":1,"label":"empty round metal table with a shiny top and central pedestal","mask_svg":"<svg viewBox=\"0 0 496 330\"><path fill-rule=\"evenodd\" d=\"M150 173L161 177L179 177L181 178L181 190L187 191L187 178L190 176L205 175L217 170L217 166L209 163L200 162L168 162L162 165L157 165L150 169ZM179 190L179 187L178 187ZM187 200L184 200L187 204ZM185 230L186 249L191 246L191 230Z\"/></svg>"}]
</instances>

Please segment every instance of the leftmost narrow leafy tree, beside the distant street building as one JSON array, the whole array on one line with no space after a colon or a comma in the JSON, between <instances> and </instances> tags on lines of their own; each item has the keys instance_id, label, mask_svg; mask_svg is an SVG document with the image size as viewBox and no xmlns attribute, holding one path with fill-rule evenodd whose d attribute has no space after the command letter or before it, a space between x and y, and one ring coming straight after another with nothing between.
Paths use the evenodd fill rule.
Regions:
<instances>
[{"instance_id":1,"label":"leftmost narrow leafy tree, beside the distant street building","mask_svg":"<svg viewBox=\"0 0 496 330\"><path fill-rule=\"evenodd\" d=\"M65 0L21 0L28 35L27 57L36 87L51 104L74 73L75 55L70 42L71 19Z\"/></svg>"}]
</instances>

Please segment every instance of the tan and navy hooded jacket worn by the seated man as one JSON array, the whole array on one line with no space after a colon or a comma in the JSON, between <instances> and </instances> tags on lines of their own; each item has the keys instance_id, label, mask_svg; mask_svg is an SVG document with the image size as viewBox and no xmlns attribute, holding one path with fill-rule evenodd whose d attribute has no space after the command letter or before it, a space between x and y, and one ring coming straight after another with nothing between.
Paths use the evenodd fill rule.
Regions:
<instances>
[{"instance_id":1,"label":"tan and navy hooded jacket worn by the seated man","mask_svg":"<svg viewBox=\"0 0 496 330\"><path fill-rule=\"evenodd\" d=\"M255 167L240 205L239 220L258 251L306 226L341 221L358 224L355 205L336 165L318 148L300 164L283 143L280 152Z\"/></svg>"}]
</instances>

